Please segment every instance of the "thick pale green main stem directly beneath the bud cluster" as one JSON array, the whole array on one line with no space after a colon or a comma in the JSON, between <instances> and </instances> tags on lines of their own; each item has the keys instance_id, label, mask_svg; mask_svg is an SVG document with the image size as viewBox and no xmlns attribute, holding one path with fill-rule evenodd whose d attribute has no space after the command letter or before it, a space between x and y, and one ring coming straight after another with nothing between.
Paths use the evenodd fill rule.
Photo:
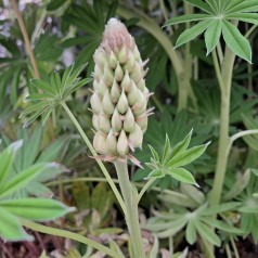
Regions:
<instances>
[{"instance_id":1,"label":"thick pale green main stem directly beneath the bud cluster","mask_svg":"<svg viewBox=\"0 0 258 258\"><path fill-rule=\"evenodd\" d=\"M132 258L144 258L143 241L141 235L141 229L139 223L138 212L138 193L134 186L131 184L127 162L116 160L114 162L117 178L121 189L121 194L126 204L125 218L128 225L131 246L132 246Z\"/></svg>"}]
</instances>

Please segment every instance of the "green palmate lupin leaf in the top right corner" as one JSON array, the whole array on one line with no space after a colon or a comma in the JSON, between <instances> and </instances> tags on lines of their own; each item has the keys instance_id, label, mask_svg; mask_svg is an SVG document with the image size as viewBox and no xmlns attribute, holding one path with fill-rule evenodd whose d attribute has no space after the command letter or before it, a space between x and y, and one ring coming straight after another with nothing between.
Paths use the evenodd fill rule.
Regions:
<instances>
[{"instance_id":1,"label":"green palmate lupin leaf in the top right corner","mask_svg":"<svg viewBox=\"0 0 258 258\"><path fill-rule=\"evenodd\" d=\"M180 23L198 22L193 27L185 29L178 38L176 48L191 41L205 31L207 55L219 43L222 34L225 44L240 57L251 62L251 49L248 40L229 21L242 21L257 25L258 5L254 0L236 1L218 0L205 2L198 0L185 0L185 2L201 9L206 14L185 14L168 20L164 26Z\"/></svg>"}]
</instances>

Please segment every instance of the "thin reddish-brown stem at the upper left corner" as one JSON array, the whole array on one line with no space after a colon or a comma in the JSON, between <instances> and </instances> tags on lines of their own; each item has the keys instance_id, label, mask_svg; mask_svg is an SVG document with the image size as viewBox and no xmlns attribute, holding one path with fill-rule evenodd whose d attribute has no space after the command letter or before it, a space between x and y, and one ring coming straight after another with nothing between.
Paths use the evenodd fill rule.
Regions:
<instances>
[{"instance_id":1,"label":"thin reddish-brown stem at the upper left corner","mask_svg":"<svg viewBox=\"0 0 258 258\"><path fill-rule=\"evenodd\" d=\"M30 44L30 41L29 41L29 38L28 38L26 27L25 27L24 22L23 22L23 17L22 17L22 15L18 11L16 1L11 0L11 3L12 3L12 7L13 7L13 10L15 12L16 18L18 21L21 31L23 34L23 38L24 38L24 41L25 41L25 47L26 47L27 53L29 55L29 59L30 59L30 62L31 62L31 65L33 65L33 68L34 68L35 77L37 79L40 79L38 66L37 66L37 63L36 63L36 60L35 60L34 51L33 51L33 48L31 48L31 44Z\"/></svg>"}]
</instances>

